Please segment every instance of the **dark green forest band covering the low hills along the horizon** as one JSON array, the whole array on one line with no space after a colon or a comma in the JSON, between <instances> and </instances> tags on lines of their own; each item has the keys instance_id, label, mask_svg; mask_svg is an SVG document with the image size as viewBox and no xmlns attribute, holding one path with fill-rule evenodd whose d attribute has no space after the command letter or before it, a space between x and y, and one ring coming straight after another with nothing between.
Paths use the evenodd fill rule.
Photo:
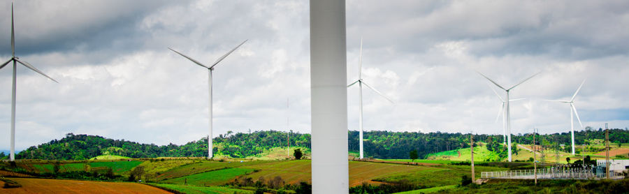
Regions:
<instances>
[{"instance_id":1,"label":"dark green forest band covering the low hills along the horizon","mask_svg":"<svg viewBox=\"0 0 629 194\"><path fill-rule=\"evenodd\" d=\"M440 151L469 147L470 134L463 133L414 133L393 132L386 130L366 131L364 134L365 155L373 158L409 158L409 153L416 150L419 158ZM605 139L605 130L575 131L577 144L589 144L588 140ZM566 144L570 145L570 133L553 133L537 136L537 144L547 147ZM290 142L287 141L290 140ZM505 147L500 144L502 135L474 135L475 142L486 142L489 149L502 152ZM629 142L629 130L610 129L609 140L615 144ZM232 158L244 158L261 154L274 147L304 147L310 149L310 134L294 133L277 130L260 130L252 133L232 133L228 131L215 137L213 151L215 155L225 155ZM533 136L528 134L514 134L514 144L532 144ZM350 152L359 151L359 132L348 131ZM502 151L501 151L502 150ZM52 140L38 146L29 147L16 155L18 159L45 160L85 160L100 155L117 155L131 158L155 157L203 157L208 156L208 139L188 142L187 144L140 144L128 140L112 140L97 135L66 134L61 140ZM5 156L6 157L6 156ZM1 157L0 157L1 158Z\"/></svg>"}]
</instances>

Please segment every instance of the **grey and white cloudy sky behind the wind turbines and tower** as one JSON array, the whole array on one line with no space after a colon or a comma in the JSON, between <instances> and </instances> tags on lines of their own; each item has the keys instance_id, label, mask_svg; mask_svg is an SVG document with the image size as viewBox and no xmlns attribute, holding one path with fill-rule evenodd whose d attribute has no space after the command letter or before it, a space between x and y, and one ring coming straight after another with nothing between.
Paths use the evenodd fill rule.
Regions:
<instances>
[{"instance_id":1,"label":"grey and white cloudy sky behind the wind turbines and tower","mask_svg":"<svg viewBox=\"0 0 629 194\"><path fill-rule=\"evenodd\" d=\"M0 10L0 55L10 59L10 6ZM215 136L227 130L310 133L308 1L15 2L15 53L59 84L17 69L18 150L87 133L185 144L208 131L214 71ZM583 126L629 126L627 1L347 0L347 82L363 79L366 130L502 133L500 99L475 71L511 87L512 131L567 132L569 100ZM491 86L498 90L498 87ZM0 149L9 148L10 66L0 70ZM504 91L498 90L503 95ZM348 89L349 129L358 89ZM287 108L287 99L289 108ZM287 126L287 117L289 119ZM580 129L575 119L575 128Z\"/></svg>"}]
</instances>

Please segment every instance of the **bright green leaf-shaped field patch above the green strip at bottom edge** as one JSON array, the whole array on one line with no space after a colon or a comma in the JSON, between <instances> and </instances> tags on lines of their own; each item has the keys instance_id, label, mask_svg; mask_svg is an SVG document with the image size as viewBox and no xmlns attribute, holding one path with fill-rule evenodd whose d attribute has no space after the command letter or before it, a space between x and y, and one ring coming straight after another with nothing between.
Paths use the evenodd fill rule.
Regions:
<instances>
[{"instance_id":1,"label":"bright green leaf-shaped field patch above the green strip at bottom edge","mask_svg":"<svg viewBox=\"0 0 629 194\"><path fill-rule=\"evenodd\" d=\"M198 174L192 174L185 177L179 177L175 179L167 179L161 181L166 184L186 184L192 186L220 186L229 183L231 180L236 179L236 176L253 172L253 169L249 168L227 168L223 170L213 170L210 172L203 172Z\"/></svg>"}]
</instances>

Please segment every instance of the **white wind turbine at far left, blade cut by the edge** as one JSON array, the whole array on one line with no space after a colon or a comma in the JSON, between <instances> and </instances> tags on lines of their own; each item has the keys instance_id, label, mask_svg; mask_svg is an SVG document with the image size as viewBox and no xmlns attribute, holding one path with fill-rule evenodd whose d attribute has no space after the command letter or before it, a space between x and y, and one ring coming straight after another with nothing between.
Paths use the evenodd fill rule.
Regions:
<instances>
[{"instance_id":1,"label":"white wind turbine at far left, blade cut by the edge","mask_svg":"<svg viewBox=\"0 0 629 194\"><path fill-rule=\"evenodd\" d=\"M23 66L26 66L27 68L34 70L35 72L45 77L48 77L48 79L54 82L57 82L57 80L52 79L52 77L49 77L48 75L45 75L43 72L41 72L41 70L38 70L37 68L29 64L27 61L20 61L19 60L20 58L15 57L15 27L13 26L14 26L13 3L11 3L11 56L12 57L8 61L4 62L4 64L0 65L0 69L1 69L7 64L9 64L11 61L13 61L13 90L11 91L11 150L9 154L10 161L15 161L15 89L16 89L15 84L17 82L15 74L17 72L17 63L20 63Z\"/></svg>"}]
</instances>

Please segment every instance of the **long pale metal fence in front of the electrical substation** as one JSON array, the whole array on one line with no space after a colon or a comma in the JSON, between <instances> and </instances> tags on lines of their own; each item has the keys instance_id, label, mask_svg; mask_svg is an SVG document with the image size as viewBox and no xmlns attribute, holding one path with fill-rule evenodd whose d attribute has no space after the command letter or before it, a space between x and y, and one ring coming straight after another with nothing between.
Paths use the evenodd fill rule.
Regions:
<instances>
[{"instance_id":1,"label":"long pale metal fence in front of the electrical substation","mask_svg":"<svg viewBox=\"0 0 629 194\"><path fill-rule=\"evenodd\" d=\"M609 172L610 179L623 179L622 174ZM537 170L537 179L605 179L605 171L591 169L556 169ZM507 170L481 172L482 179L534 179L534 170Z\"/></svg>"}]
</instances>

